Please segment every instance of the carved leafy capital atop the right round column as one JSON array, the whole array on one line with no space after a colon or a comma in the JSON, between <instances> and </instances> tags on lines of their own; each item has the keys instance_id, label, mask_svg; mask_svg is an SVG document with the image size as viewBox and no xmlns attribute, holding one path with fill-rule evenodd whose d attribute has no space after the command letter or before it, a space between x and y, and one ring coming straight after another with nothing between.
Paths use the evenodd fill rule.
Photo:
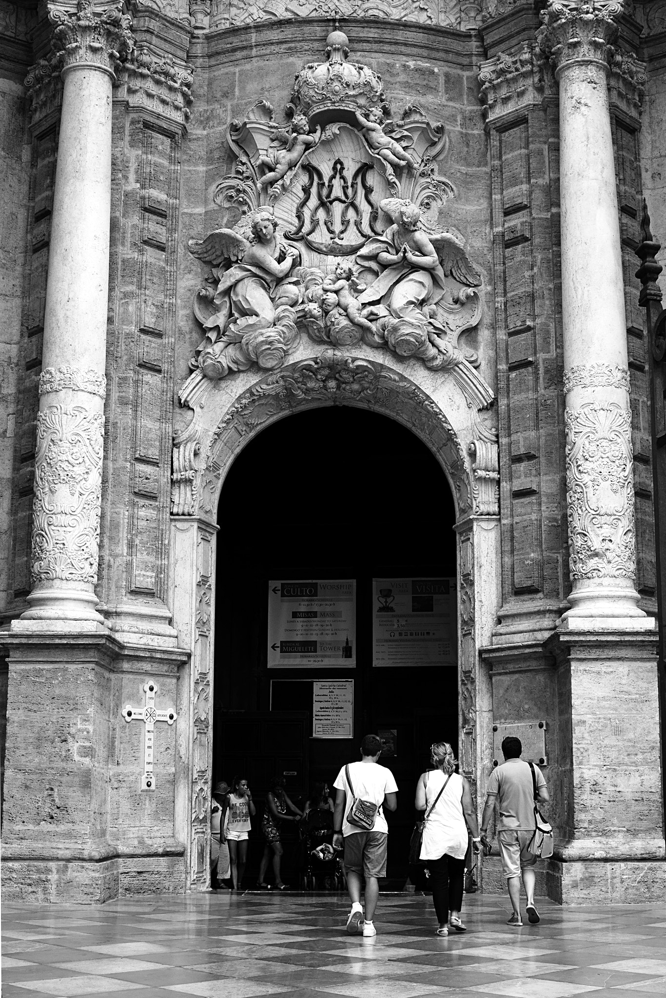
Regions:
<instances>
[{"instance_id":1,"label":"carved leafy capital atop the right round column","mask_svg":"<svg viewBox=\"0 0 666 998\"><path fill-rule=\"evenodd\" d=\"M624 10L622 0L549 0L536 39L555 76L575 63L597 63L607 71L618 32L615 19Z\"/></svg>"}]
</instances>

